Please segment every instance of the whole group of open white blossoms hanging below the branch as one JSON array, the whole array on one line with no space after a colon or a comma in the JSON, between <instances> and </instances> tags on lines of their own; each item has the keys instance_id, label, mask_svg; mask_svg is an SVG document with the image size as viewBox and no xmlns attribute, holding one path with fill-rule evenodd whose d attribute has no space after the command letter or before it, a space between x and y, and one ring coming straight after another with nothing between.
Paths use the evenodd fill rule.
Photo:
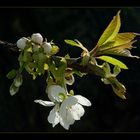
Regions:
<instances>
[{"instance_id":1,"label":"whole group of open white blossoms hanging below the branch","mask_svg":"<svg viewBox=\"0 0 140 140\"><path fill-rule=\"evenodd\" d=\"M56 90L58 89L59 92L63 92L63 88L58 85L52 85L51 89L48 91L51 92L51 101L43 101L43 100L35 100L36 103L39 103L44 106L53 106L53 109L50 111L48 116L48 122L52 124L54 127L58 123L60 123L65 129L69 129L69 126L72 125L75 120L80 120L80 118L84 115L85 110L82 105L84 106L91 106L91 102L81 96L75 95L67 97L64 101L55 102L59 99L59 92Z\"/></svg>"}]
</instances>

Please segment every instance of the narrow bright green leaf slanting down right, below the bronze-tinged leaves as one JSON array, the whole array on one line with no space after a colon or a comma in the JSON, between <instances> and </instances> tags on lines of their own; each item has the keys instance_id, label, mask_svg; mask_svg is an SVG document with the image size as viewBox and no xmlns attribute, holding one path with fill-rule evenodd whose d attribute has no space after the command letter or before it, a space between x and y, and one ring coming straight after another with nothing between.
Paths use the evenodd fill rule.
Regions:
<instances>
[{"instance_id":1,"label":"narrow bright green leaf slanting down right, below the bronze-tinged leaves","mask_svg":"<svg viewBox=\"0 0 140 140\"><path fill-rule=\"evenodd\" d=\"M122 68L122 69L128 69L128 67L121 61L113 58L113 57L110 57L110 56L99 56L97 57L98 59L101 59L103 61L106 61L112 65L117 65L118 67Z\"/></svg>"}]
</instances>

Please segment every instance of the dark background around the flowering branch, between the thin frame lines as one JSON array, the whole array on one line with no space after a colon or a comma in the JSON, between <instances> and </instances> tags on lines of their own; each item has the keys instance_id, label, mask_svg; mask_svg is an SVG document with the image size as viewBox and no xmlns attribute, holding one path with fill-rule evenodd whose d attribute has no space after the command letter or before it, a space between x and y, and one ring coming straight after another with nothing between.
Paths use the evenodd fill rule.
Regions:
<instances>
[{"instance_id":1,"label":"dark background around the flowering branch, between the thin frame lines","mask_svg":"<svg viewBox=\"0 0 140 140\"><path fill-rule=\"evenodd\" d=\"M78 57L80 49L69 47L64 39L78 39L89 50L121 10L120 32L140 33L140 8L0 8L0 40L16 43L32 33L41 33L59 47L58 55ZM132 54L140 56L140 38L134 43ZM104 85L95 75L75 76L71 87L92 102L85 107L85 115L66 131L60 125L52 128L47 117L52 109L34 103L35 99L47 100L45 77L35 81L24 73L20 91L10 96L12 80L6 74L18 68L18 54L0 46L0 132L140 132L140 62L123 58L129 69L118 76L127 89L127 100L119 99L111 86Z\"/></svg>"}]
</instances>

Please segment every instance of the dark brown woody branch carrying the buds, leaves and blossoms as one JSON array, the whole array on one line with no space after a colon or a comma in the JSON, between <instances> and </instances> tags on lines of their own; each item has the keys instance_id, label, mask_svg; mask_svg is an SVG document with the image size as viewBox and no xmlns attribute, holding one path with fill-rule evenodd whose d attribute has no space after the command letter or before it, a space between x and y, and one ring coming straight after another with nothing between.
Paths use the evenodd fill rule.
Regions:
<instances>
[{"instance_id":1,"label":"dark brown woody branch carrying the buds, leaves and blossoms","mask_svg":"<svg viewBox=\"0 0 140 140\"><path fill-rule=\"evenodd\" d=\"M8 49L10 51L13 51L16 53L19 52L16 44L12 44L12 43L8 43L6 41L0 40L0 45L2 45L5 49ZM52 56L52 59L54 61L58 61L61 58L62 57L60 57L60 56ZM101 76L101 77L104 76L104 71L97 65L93 64L91 61L89 61L89 63L86 66L80 65L82 57L70 58L70 59L66 59L66 60L67 60L67 66L69 68L76 69L83 73L94 74L94 75Z\"/></svg>"}]
</instances>

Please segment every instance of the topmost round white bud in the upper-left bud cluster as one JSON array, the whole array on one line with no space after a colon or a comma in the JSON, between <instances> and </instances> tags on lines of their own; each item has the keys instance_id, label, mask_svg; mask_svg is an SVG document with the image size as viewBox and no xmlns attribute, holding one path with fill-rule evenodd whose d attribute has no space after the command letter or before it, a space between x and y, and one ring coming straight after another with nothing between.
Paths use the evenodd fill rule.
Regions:
<instances>
[{"instance_id":1,"label":"topmost round white bud in the upper-left bud cluster","mask_svg":"<svg viewBox=\"0 0 140 140\"><path fill-rule=\"evenodd\" d=\"M35 43L38 43L38 44L42 44L43 42L43 37L40 33L35 33L35 34L32 34L31 36L31 40Z\"/></svg>"}]
</instances>

